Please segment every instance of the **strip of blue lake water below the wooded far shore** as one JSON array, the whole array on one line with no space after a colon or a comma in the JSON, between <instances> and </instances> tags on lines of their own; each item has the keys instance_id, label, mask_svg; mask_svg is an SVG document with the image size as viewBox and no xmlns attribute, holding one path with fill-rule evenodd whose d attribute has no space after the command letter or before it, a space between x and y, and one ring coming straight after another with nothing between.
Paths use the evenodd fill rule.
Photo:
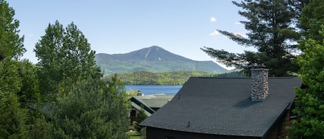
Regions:
<instances>
[{"instance_id":1,"label":"strip of blue lake water below the wooded far shore","mask_svg":"<svg viewBox=\"0 0 324 139\"><path fill-rule=\"evenodd\" d=\"M175 95L182 86L164 86L164 85L127 85L126 91L141 91L144 95L151 95L156 93L164 93L166 95Z\"/></svg>"}]
</instances>

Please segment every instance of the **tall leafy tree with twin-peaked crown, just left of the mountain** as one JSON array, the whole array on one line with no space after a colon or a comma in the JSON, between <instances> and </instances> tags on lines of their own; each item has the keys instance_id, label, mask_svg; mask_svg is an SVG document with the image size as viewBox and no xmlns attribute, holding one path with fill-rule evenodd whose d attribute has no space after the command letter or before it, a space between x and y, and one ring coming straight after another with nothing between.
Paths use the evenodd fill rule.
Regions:
<instances>
[{"instance_id":1,"label":"tall leafy tree with twin-peaked crown, just left of the mountain","mask_svg":"<svg viewBox=\"0 0 324 139\"><path fill-rule=\"evenodd\" d=\"M45 33L34 49L39 59L41 93L64 93L77 80L101 77L95 64L95 51L90 50L86 37L75 24L64 29L55 21Z\"/></svg>"}]
</instances>

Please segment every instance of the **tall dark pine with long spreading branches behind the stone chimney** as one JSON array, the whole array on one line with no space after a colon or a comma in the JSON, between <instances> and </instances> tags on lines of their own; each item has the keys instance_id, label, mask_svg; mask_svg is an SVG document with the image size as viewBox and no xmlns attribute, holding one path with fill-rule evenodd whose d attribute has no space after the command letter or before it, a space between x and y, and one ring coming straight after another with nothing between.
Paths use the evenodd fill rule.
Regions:
<instances>
[{"instance_id":1,"label":"tall dark pine with long spreading branches behind the stone chimney","mask_svg":"<svg viewBox=\"0 0 324 139\"><path fill-rule=\"evenodd\" d=\"M240 54L207 47L201 49L222 64L235 66L247 74L253 67L269 68L271 76L287 76L288 71L296 72L298 67L292 64L296 56L291 53L297 49L293 42L298 39L294 28L298 8L292 5L292 1L244 0L233 3L242 8L238 14L247 18L247 21L240 21L249 31L247 38L224 30L218 31L242 46L256 48L258 52L245 51Z\"/></svg>"}]
</instances>

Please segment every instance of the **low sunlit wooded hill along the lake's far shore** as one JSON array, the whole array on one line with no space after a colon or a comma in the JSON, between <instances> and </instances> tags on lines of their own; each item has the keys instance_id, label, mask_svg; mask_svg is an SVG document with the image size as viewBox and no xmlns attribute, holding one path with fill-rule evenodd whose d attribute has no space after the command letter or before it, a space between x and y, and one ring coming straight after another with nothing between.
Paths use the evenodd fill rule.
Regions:
<instances>
[{"instance_id":1,"label":"low sunlit wooded hill along the lake's far shore","mask_svg":"<svg viewBox=\"0 0 324 139\"><path fill-rule=\"evenodd\" d=\"M149 71L136 71L121 73L120 80L127 85L182 85L189 77L242 77L239 72L230 73L207 73L202 71L171 71L166 73L151 73ZM106 76L109 80L111 76Z\"/></svg>"}]
</instances>

